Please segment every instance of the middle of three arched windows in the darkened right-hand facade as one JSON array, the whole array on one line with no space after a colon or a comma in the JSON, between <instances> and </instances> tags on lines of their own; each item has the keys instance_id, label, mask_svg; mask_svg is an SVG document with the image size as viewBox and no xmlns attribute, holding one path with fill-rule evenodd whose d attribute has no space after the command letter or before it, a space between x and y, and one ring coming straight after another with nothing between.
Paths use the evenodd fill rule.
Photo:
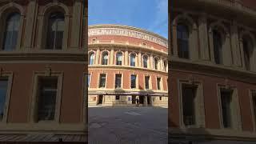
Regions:
<instances>
[{"instance_id":1,"label":"middle of three arched windows in the darkened right-hand facade","mask_svg":"<svg viewBox=\"0 0 256 144\"><path fill-rule=\"evenodd\" d=\"M216 64L222 64L222 35L218 30L213 31L214 38L214 61Z\"/></svg>"}]
</instances>

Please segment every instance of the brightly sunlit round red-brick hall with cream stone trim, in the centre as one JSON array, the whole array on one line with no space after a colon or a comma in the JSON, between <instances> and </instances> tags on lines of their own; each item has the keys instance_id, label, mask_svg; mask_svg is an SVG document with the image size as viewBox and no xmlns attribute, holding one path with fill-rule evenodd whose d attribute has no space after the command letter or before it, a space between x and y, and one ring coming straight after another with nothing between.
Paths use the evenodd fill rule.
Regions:
<instances>
[{"instance_id":1,"label":"brightly sunlit round red-brick hall with cream stone trim, in the centre","mask_svg":"<svg viewBox=\"0 0 256 144\"><path fill-rule=\"evenodd\" d=\"M168 105L166 38L131 26L89 26L89 106Z\"/></svg>"}]
</instances>

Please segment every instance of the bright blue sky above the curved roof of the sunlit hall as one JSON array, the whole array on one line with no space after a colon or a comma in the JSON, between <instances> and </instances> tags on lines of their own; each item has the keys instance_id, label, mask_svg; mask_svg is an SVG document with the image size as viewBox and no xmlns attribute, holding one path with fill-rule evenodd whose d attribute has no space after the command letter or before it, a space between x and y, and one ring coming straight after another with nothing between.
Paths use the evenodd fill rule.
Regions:
<instances>
[{"instance_id":1,"label":"bright blue sky above the curved roof of the sunlit hall","mask_svg":"<svg viewBox=\"0 0 256 144\"><path fill-rule=\"evenodd\" d=\"M135 26L168 38L168 0L89 0L89 26Z\"/></svg>"}]
</instances>

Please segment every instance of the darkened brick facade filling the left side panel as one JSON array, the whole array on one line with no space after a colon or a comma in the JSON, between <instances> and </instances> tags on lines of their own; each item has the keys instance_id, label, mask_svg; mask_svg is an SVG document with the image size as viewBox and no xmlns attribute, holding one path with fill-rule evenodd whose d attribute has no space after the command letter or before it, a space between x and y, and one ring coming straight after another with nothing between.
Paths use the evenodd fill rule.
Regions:
<instances>
[{"instance_id":1,"label":"darkened brick facade filling the left side panel","mask_svg":"<svg viewBox=\"0 0 256 144\"><path fill-rule=\"evenodd\" d=\"M86 140L86 11L82 0L0 1L2 141Z\"/></svg>"}]
</instances>

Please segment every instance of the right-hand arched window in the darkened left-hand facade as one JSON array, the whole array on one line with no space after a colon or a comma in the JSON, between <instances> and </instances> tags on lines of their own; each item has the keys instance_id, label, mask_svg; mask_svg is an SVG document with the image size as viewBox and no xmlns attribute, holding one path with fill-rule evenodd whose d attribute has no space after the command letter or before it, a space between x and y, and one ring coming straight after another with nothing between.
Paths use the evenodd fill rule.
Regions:
<instances>
[{"instance_id":1,"label":"right-hand arched window in the darkened left-hand facade","mask_svg":"<svg viewBox=\"0 0 256 144\"><path fill-rule=\"evenodd\" d=\"M50 50L61 50L63 35L64 35L64 25L65 16L62 13L50 14L48 19L48 33L46 49Z\"/></svg>"}]
</instances>

